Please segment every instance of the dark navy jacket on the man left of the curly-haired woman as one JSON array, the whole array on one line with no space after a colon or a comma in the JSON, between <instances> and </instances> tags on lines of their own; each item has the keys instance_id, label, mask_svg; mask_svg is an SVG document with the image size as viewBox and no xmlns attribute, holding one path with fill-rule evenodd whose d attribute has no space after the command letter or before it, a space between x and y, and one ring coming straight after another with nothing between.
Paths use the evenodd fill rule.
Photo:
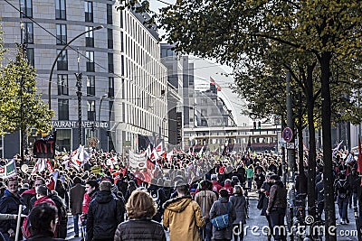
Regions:
<instances>
[{"instance_id":1,"label":"dark navy jacket on the man left of the curly-haired woman","mask_svg":"<svg viewBox=\"0 0 362 241\"><path fill-rule=\"evenodd\" d=\"M90 201L87 215L87 240L112 240L116 229L123 221L124 209L119 199L110 191L102 190Z\"/></svg>"}]
</instances>

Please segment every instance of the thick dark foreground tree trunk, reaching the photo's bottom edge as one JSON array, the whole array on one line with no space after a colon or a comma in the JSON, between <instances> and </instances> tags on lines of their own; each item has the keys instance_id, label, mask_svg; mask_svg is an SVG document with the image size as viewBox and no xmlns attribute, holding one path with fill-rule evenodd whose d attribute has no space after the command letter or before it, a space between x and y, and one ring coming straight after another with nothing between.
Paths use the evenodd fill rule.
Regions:
<instances>
[{"instance_id":1,"label":"thick dark foreground tree trunk, reaching the photo's bottom edge","mask_svg":"<svg viewBox=\"0 0 362 241\"><path fill-rule=\"evenodd\" d=\"M326 214L326 241L337 240L336 236L336 211L333 195L333 166L331 144L331 110L330 110L330 52L323 52L320 56L320 84L322 97L322 131L323 131L323 162L324 162L324 210Z\"/></svg>"}]
</instances>

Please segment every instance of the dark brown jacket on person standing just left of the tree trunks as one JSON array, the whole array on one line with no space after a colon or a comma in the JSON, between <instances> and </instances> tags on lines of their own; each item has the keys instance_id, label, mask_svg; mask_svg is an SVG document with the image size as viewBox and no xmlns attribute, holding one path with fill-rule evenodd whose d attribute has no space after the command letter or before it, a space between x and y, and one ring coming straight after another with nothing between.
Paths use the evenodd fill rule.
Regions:
<instances>
[{"instance_id":1,"label":"dark brown jacket on person standing just left of the tree trunks","mask_svg":"<svg viewBox=\"0 0 362 241\"><path fill-rule=\"evenodd\" d=\"M287 190L281 181L275 181L271 186L267 210L271 212L272 208L287 208Z\"/></svg>"}]
</instances>

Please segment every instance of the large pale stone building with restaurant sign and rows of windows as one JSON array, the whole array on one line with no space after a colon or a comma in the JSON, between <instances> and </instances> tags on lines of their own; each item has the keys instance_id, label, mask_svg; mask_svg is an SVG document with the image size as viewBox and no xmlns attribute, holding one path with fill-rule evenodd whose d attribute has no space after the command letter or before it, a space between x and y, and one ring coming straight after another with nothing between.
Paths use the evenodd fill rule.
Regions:
<instances>
[{"instance_id":1,"label":"large pale stone building with restaurant sign and rows of windows","mask_svg":"<svg viewBox=\"0 0 362 241\"><path fill-rule=\"evenodd\" d=\"M167 136L159 129L167 125L167 69L160 61L157 31L143 25L147 15L118 11L119 3L107 0L8 2L0 2L8 57L15 42L26 44L37 88L55 112L60 151L97 137L100 149L123 152L137 150L139 136ZM82 73L81 105L75 73ZM18 134L5 135L5 157L19 153L6 146L17 140Z\"/></svg>"}]
</instances>

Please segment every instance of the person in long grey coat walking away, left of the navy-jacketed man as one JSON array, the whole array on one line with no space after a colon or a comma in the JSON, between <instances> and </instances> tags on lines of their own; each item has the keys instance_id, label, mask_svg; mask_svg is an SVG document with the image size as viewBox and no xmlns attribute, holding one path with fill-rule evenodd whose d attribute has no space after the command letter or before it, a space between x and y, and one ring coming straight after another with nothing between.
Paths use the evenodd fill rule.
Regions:
<instances>
[{"instance_id":1,"label":"person in long grey coat walking away, left of the navy-jacketed man","mask_svg":"<svg viewBox=\"0 0 362 241\"><path fill-rule=\"evenodd\" d=\"M81 178L75 177L73 179L74 186L69 191L70 208L73 216L74 237L79 237L78 220L82 213L82 201L85 194L85 188L81 185Z\"/></svg>"}]
</instances>

